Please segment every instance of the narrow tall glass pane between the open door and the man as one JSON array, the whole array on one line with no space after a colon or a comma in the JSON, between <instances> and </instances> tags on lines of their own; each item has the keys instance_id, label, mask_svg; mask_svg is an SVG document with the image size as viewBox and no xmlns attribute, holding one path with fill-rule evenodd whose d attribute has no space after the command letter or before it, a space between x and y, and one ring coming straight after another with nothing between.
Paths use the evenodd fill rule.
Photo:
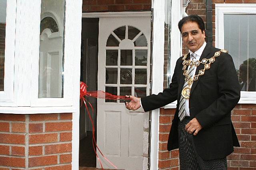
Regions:
<instances>
[{"instance_id":1,"label":"narrow tall glass pane between the open door and the man","mask_svg":"<svg viewBox=\"0 0 256 170\"><path fill-rule=\"evenodd\" d=\"M171 7L172 0L164 0L164 88L168 88L171 82Z\"/></svg>"}]
</instances>

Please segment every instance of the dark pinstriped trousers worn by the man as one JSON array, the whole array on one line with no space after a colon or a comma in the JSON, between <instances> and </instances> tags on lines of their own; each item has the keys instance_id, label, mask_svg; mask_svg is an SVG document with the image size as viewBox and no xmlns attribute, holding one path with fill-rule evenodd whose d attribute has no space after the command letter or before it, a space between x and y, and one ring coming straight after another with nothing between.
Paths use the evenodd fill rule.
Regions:
<instances>
[{"instance_id":1,"label":"dark pinstriped trousers worn by the man","mask_svg":"<svg viewBox=\"0 0 256 170\"><path fill-rule=\"evenodd\" d=\"M190 118L185 117L178 125L180 170L227 170L226 158L214 160L200 158L196 152L193 134L189 134L185 130L185 126L189 121Z\"/></svg>"}]
</instances>

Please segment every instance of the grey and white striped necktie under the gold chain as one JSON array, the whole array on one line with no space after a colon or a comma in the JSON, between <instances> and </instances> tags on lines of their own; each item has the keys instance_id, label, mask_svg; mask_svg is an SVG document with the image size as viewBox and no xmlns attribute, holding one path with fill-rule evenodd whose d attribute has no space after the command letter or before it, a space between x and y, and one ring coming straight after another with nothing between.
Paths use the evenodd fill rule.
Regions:
<instances>
[{"instance_id":1,"label":"grey and white striped necktie under the gold chain","mask_svg":"<svg viewBox=\"0 0 256 170\"><path fill-rule=\"evenodd\" d=\"M193 59L196 59L195 57L196 54L191 54L191 57ZM188 76L189 78L192 78L193 76L193 72L194 72L194 69L195 69L195 65L193 64L192 66L190 66L190 68L188 69ZM188 85L188 81L185 81L184 85L183 85L183 88L182 90ZM185 102L186 102L186 99L182 96L180 96L180 104L179 104L179 118L180 118L180 121L182 121L185 117Z\"/></svg>"}]
</instances>

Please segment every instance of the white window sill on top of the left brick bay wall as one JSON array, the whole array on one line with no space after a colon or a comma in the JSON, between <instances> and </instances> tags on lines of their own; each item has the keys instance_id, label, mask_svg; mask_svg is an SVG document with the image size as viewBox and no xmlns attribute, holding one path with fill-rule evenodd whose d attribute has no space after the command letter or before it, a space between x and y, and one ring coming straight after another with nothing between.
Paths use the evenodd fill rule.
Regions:
<instances>
[{"instance_id":1,"label":"white window sill on top of the left brick bay wall","mask_svg":"<svg viewBox=\"0 0 256 170\"><path fill-rule=\"evenodd\" d=\"M0 106L1 113L12 114L38 114L38 113L74 113L73 106L62 107L3 107Z\"/></svg>"}]
</instances>

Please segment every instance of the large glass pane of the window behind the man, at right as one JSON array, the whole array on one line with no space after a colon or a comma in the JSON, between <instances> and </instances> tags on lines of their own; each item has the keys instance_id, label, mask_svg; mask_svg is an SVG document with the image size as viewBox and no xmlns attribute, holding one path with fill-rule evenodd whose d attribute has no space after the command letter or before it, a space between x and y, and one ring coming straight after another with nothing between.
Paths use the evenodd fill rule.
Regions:
<instances>
[{"instance_id":1,"label":"large glass pane of the window behind the man, at right","mask_svg":"<svg viewBox=\"0 0 256 170\"><path fill-rule=\"evenodd\" d=\"M255 28L255 14L224 14L224 48L233 58L241 91L256 91Z\"/></svg>"}]
</instances>

